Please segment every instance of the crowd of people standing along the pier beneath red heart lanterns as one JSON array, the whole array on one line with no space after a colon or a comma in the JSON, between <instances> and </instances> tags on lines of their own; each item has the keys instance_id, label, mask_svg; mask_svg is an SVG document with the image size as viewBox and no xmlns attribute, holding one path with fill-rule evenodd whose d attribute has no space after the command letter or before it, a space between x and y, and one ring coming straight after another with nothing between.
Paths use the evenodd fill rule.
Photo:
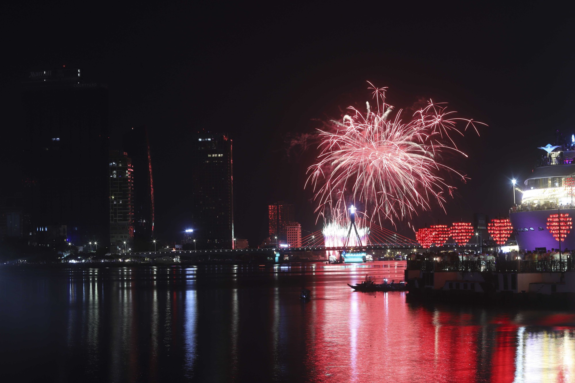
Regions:
<instances>
[{"instance_id":1,"label":"crowd of people standing along the pier beneath red heart lanterns","mask_svg":"<svg viewBox=\"0 0 575 383\"><path fill-rule=\"evenodd\" d=\"M510 251L510 252L482 252L463 254L455 251L411 253L407 256L410 261L546 261L553 259L568 259L571 251L567 248L561 250L552 248L550 251Z\"/></svg>"}]
</instances>

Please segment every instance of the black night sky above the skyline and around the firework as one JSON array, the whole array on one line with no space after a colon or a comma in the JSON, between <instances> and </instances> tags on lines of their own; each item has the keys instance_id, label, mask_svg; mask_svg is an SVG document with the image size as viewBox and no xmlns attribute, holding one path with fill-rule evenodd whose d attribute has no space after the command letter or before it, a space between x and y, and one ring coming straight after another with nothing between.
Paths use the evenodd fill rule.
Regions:
<instances>
[{"instance_id":1,"label":"black night sky above the skyline and around the firework","mask_svg":"<svg viewBox=\"0 0 575 383\"><path fill-rule=\"evenodd\" d=\"M523 181L536 147L553 143L555 129L575 131L573 12L549 2L166 3L2 5L5 179L17 175L20 81L62 65L109 85L112 146L129 127L150 129L163 240L185 225L186 156L199 129L233 139L237 238L261 242L276 200L296 204L304 229L319 228L303 190L313 153L287 156L285 136L365 105L366 81L388 86L397 107L433 98L489 125L462 145L469 159L457 168L471 180L454 183L447 216L422 213L416 225L505 213L509 179Z\"/></svg>"}]
</instances>

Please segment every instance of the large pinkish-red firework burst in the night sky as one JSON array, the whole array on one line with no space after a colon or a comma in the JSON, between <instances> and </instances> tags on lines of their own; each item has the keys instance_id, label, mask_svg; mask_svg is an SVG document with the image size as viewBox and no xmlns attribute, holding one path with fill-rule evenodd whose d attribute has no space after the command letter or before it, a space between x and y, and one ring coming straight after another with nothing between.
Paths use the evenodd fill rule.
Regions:
<instances>
[{"instance_id":1,"label":"large pinkish-red firework burst in the night sky","mask_svg":"<svg viewBox=\"0 0 575 383\"><path fill-rule=\"evenodd\" d=\"M446 195L453 196L455 189L444 177L466 179L444 163L446 154L467 156L458 150L454 137L463 136L469 127L477 132L476 125L485 124L455 117L446 104L431 100L404 122L402 110L394 113L386 104L386 88L369 89L375 108L369 102L366 113L350 107L342 121L332 120L330 128L318 129L320 155L308 168L306 181L306 187L312 185L315 191L316 212L324 218L334 216L332 206L342 207L347 200L365 206L368 220L394 224L430 209L432 200L444 209ZM338 214L334 217L326 224L337 222Z\"/></svg>"}]
</instances>

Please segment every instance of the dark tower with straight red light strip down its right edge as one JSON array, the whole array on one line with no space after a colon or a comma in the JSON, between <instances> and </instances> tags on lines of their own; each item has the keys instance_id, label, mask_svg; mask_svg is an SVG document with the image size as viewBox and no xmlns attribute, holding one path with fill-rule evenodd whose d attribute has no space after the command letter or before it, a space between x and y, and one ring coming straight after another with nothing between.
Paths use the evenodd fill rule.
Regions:
<instances>
[{"instance_id":1,"label":"dark tower with straight red light strip down its right edge","mask_svg":"<svg viewBox=\"0 0 575 383\"><path fill-rule=\"evenodd\" d=\"M191 149L191 221L197 248L232 248L232 140L198 134Z\"/></svg>"}]
</instances>

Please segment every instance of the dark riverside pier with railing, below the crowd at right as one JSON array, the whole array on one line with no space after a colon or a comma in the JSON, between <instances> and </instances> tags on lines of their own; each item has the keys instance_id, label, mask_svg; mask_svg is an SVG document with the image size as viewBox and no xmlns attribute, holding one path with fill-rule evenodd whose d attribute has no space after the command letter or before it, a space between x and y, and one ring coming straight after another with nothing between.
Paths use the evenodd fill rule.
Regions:
<instances>
[{"instance_id":1,"label":"dark riverside pier with railing, below the crowd at right","mask_svg":"<svg viewBox=\"0 0 575 383\"><path fill-rule=\"evenodd\" d=\"M408 297L423 301L575 308L575 264L542 261L407 261Z\"/></svg>"}]
</instances>

